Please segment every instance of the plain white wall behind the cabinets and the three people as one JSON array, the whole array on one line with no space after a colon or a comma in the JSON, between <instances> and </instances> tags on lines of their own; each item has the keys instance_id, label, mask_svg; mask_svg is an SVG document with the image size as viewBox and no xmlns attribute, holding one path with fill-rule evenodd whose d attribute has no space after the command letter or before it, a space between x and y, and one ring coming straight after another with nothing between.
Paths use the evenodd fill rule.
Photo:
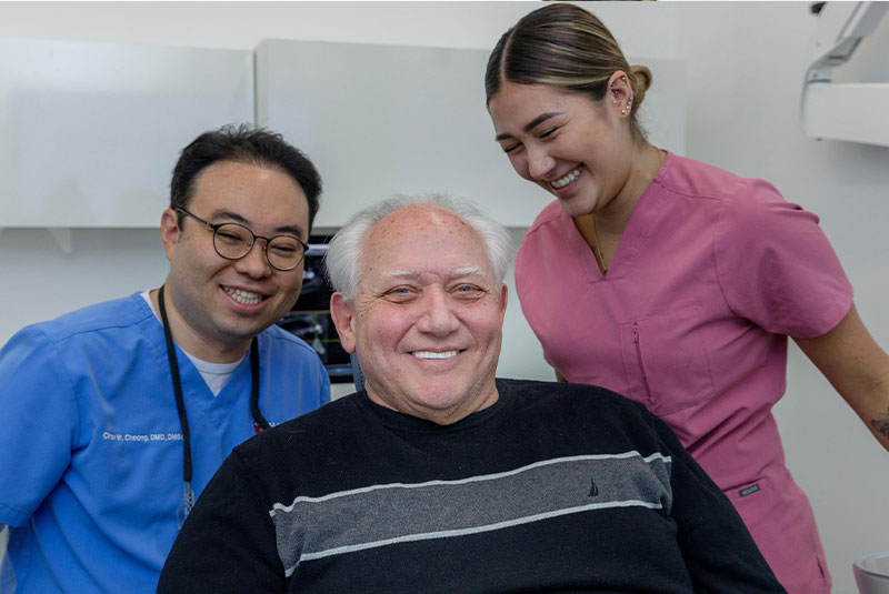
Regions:
<instances>
[{"instance_id":1,"label":"plain white wall behind the cabinets and the three people","mask_svg":"<svg viewBox=\"0 0 889 594\"><path fill-rule=\"evenodd\" d=\"M688 61L686 154L766 178L820 214L856 288L861 316L889 346L889 310L881 306L889 294L883 242L889 149L802 134L799 90L816 24L808 4L587 6L627 53ZM0 2L0 37L234 49L252 49L262 38L490 48L532 8L527 2ZM881 43L885 56L887 33L889 22L866 41L862 56L880 59L868 43ZM889 80L889 67L881 72ZM541 197L541 207L546 201ZM518 241L521 230L513 236ZM46 230L0 233L0 342L24 323L154 286L166 271L154 230L74 230L72 245L63 253ZM517 305L513 299L507 313L501 373L549 377ZM852 594L851 561L889 550L889 457L796 349L788 395L776 414L789 465L815 506L835 592Z\"/></svg>"}]
</instances>

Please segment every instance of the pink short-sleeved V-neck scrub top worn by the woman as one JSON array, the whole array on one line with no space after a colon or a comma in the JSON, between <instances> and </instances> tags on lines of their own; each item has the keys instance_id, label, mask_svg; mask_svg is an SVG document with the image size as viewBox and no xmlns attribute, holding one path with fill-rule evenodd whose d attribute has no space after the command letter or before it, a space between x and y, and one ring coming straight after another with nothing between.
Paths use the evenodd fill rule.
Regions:
<instances>
[{"instance_id":1,"label":"pink short-sleeved V-neck scrub top worn by the woman","mask_svg":"<svg viewBox=\"0 0 889 594\"><path fill-rule=\"evenodd\" d=\"M516 286L550 365L646 404L731 500L788 592L830 591L771 414L787 336L825 334L852 303L818 217L766 181L668 153L608 274L552 202L519 249Z\"/></svg>"}]
</instances>

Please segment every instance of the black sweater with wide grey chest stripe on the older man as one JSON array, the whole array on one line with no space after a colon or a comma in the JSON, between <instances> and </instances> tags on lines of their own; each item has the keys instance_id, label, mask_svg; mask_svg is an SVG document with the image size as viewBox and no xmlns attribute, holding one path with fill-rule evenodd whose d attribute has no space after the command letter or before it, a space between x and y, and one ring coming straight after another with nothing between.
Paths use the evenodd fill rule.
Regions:
<instances>
[{"instance_id":1,"label":"black sweater with wide grey chest stripe on the older man","mask_svg":"<svg viewBox=\"0 0 889 594\"><path fill-rule=\"evenodd\" d=\"M198 501L167 593L785 592L643 406L498 380L436 425L363 392L251 439Z\"/></svg>"}]
</instances>

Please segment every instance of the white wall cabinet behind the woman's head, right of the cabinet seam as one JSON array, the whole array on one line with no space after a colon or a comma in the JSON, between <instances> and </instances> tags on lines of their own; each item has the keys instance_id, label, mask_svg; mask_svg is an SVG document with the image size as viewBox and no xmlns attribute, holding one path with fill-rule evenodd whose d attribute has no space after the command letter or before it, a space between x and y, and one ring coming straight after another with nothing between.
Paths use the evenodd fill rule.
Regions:
<instances>
[{"instance_id":1,"label":"white wall cabinet behind the woman's head, right of the cabinet seam","mask_svg":"<svg viewBox=\"0 0 889 594\"><path fill-rule=\"evenodd\" d=\"M489 50L266 40L256 51L257 122L307 152L324 182L317 226L343 224L392 193L447 191L527 226L551 197L521 180L485 104ZM682 67L656 72L651 140L682 152ZM635 63L635 62L633 62Z\"/></svg>"}]
</instances>

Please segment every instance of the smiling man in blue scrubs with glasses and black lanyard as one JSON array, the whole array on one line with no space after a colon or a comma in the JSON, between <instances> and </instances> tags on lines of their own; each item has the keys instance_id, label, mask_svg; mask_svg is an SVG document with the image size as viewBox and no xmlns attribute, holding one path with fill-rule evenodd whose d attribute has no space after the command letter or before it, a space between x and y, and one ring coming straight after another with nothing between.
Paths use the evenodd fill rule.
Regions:
<instances>
[{"instance_id":1,"label":"smiling man in blue scrubs with glasses and black lanyard","mask_svg":"<svg viewBox=\"0 0 889 594\"><path fill-rule=\"evenodd\" d=\"M159 289L24 328L0 351L0 592L154 592L229 452L330 400L273 325L302 283L321 179L280 135L206 132L173 171Z\"/></svg>"}]
</instances>

